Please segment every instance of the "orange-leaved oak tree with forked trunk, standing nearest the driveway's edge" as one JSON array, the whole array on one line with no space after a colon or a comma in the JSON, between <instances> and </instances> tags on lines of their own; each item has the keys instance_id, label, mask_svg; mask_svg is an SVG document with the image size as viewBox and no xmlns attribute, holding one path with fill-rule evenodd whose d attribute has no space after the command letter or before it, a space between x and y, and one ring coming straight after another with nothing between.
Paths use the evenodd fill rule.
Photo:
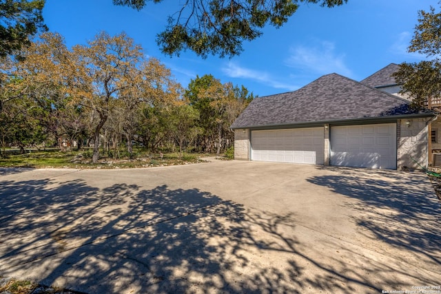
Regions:
<instances>
[{"instance_id":1,"label":"orange-leaved oak tree with forked trunk, standing nearest the driveway's edge","mask_svg":"<svg viewBox=\"0 0 441 294\"><path fill-rule=\"evenodd\" d=\"M80 66L76 77L78 84L74 86L79 92L74 95L81 105L90 107L97 115L92 138L92 162L96 163L101 129L115 106L114 101L130 85L130 73L138 70L143 51L124 33L110 36L101 32L88 45L74 46L73 52Z\"/></svg>"}]
</instances>

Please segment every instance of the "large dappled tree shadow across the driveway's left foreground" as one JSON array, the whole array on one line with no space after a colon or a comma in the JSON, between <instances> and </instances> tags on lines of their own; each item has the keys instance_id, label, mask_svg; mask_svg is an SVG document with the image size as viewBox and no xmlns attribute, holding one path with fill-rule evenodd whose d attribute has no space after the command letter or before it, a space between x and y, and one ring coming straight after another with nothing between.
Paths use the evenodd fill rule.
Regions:
<instances>
[{"instance_id":1,"label":"large dappled tree shadow across the driveway's left foreground","mask_svg":"<svg viewBox=\"0 0 441 294\"><path fill-rule=\"evenodd\" d=\"M0 195L3 275L85 293L293 291L243 251L270 246L243 226L243 206L209 192L44 179L3 181Z\"/></svg>"}]
</instances>

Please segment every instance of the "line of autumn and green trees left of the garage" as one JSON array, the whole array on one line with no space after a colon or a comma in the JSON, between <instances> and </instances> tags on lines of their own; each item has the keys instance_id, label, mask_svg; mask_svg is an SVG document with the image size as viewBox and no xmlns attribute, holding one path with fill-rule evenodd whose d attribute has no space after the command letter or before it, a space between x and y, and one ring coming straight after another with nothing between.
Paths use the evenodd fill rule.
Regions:
<instances>
[{"instance_id":1,"label":"line of autumn and green trees left of the garage","mask_svg":"<svg viewBox=\"0 0 441 294\"><path fill-rule=\"evenodd\" d=\"M254 98L245 87L196 76L187 88L126 34L96 35L68 48L43 33L0 68L0 147L121 146L151 151L221 151L234 142L229 125Z\"/></svg>"}]
</instances>

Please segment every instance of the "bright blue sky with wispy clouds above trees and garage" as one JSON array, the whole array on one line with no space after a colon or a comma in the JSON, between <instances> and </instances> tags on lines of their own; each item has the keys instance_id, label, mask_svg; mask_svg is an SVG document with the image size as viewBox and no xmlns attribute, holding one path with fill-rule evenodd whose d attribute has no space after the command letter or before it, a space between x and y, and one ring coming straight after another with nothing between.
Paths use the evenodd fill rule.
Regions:
<instances>
[{"instance_id":1,"label":"bright blue sky with wispy clouds above trees and garage","mask_svg":"<svg viewBox=\"0 0 441 294\"><path fill-rule=\"evenodd\" d=\"M125 32L146 56L169 67L183 87L196 75L212 74L267 96L297 90L324 74L360 81L389 63L421 61L424 56L407 52L418 10L439 7L438 0L349 0L336 8L302 4L282 28L268 26L259 39L244 43L240 56L202 59L189 51L165 56L156 45L167 16L179 8L174 2L179 3L149 1L138 12L112 0L46 0L43 17L69 47L101 31Z\"/></svg>"}]
</instances>

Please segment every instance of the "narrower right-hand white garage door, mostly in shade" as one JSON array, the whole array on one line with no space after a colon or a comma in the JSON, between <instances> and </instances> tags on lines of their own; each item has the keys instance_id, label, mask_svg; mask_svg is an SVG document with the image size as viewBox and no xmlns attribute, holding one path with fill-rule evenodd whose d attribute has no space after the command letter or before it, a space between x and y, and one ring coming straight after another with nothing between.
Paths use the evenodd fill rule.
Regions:
<instances>
[{"instance_id":1,"label":"narrower right-hand white garage door, mostly in shade","mask_svg":"<svg viewBox=\"0 0 441 294\"><path fill-rule=\"evenodd\" d=\"M331 127L331 165L396 169L396 124Z\"/></svg>"}]
</instances>

